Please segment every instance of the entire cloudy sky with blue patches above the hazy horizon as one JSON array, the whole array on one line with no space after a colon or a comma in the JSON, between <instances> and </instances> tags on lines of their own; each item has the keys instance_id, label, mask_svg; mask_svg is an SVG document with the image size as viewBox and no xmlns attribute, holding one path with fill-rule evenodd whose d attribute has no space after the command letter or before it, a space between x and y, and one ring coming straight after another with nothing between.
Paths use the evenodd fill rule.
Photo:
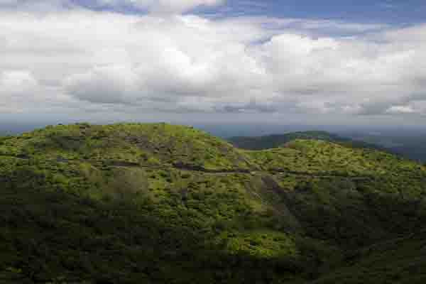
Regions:
<instances>
[{"instance_id":1,"label":"entire cloudy sky with blue patches above the hazy horizon","mask_svg":"<svg viewBox=\"0 0 426 284\"><path fill-rule=\"evenodd\" d=\"M424 125L425 15L424 0L0 0L0 119Z\"/></svg>"}]
</instances>

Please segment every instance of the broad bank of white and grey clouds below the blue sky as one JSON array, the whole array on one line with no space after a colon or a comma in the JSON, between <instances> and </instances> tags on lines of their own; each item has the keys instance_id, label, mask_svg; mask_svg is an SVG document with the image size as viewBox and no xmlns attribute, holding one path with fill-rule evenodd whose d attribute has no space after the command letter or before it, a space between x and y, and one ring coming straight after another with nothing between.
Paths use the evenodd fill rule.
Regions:
<instances>
[{"instance_id":1,"label":"broad bank of white and grey clouds below the blue sky","mask_svg":"<svg viewBox=\"0 0 426 284\"><path fill-rule=\"evenodd\" d=\"M181 12L219 2L155 5ZM76 111L426 114L426 26L364 26L375 32L351 37L311 30L342 25L363 29L265 17L0 11L1 111L44 102Z\"/></svg>"}]
</instances>

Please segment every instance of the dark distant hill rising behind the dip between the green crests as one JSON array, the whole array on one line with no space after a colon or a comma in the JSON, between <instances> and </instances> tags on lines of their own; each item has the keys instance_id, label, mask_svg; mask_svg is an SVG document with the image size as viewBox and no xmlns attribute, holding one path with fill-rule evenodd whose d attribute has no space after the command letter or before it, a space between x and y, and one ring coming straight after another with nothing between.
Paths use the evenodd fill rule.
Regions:
<instances>
[{"instance_id":1,"label":"dark distant hill rising behind the dip between the green crests","mask_svg":"<svg viewBox=\"0 0 426 284\"><path fill-rule=\"evenodd\" d=\"M327 131L300 131L285 134L275 134L268 136L255 136L255 137L231 137L229 142L234 146L247 149L247 150L265 150L271 148L283 147L285 143L294 141L296 139L306 140L322 140L334 143L339 143L346 146L355 148L373 148L381 151L387 151L386 148L377 146L373 143L366 143L363 141L354 141L351 138L345 138L337 134L329 133Z\"/></svg>"}]
</instances>

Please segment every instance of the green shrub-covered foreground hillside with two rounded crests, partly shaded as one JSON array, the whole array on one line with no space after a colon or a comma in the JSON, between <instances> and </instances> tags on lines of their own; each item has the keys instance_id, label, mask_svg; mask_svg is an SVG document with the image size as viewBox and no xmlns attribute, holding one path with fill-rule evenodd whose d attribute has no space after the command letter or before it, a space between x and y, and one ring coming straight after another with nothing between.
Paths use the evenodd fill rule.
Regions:
<instances>
[{"instance_id":1,"label":"green shrub-covered foreground hillside with two rounded crests, partly shaded","mask_svg":"<svg viewBox=\"0 0 426 284\"><path fill-rule=\"evenodd\" d=\"M0 138L0 283L425 283L426 168L186 126Z\"/></svg>"}]
</instances>

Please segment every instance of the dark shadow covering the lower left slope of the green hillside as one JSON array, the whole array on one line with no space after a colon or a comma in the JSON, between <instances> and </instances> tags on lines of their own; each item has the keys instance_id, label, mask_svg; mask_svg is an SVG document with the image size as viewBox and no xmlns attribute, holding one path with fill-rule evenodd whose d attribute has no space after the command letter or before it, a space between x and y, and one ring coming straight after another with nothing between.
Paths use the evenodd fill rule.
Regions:
<instances>
[{"instance_id":1,"label":"dark shadow covering the lower left slope of the green hillside","mask_svg":"<svg viewBox=\"0 0 426 284\"><path fill-rule=\"evenodd\" d=\"M153 204L1 190L0 280L10 283L280 283L306 261L229 254L215 231L171 224ZM315 263L312 263L315 266Z\"/></svg>"}]
</instances>

